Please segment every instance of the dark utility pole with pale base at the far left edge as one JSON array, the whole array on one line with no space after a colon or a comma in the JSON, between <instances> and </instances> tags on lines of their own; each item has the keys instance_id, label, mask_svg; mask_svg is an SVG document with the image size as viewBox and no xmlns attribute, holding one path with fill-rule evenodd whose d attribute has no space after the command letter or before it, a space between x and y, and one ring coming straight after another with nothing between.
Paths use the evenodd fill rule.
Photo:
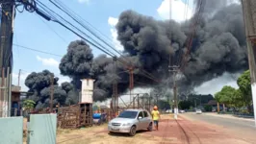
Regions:
<instances>
[{"instance_id":1,"label":"dark utility pole with pale base at the far left edge","mask_svg":"<svg viewBox=\"0 0 256 144\"><path fill-rule=\"evenodd\" d=\"M1 4L1 29L0 29L0 75L3 77L2 82L5 81L7 76L12 73L13 69L13 14L14 14L14 0L0 0ZM10 67L10 71L7 70ZM7 74L7 72L9 74ZM11 110L11 80L12 76L7 79L7 83L1 87L0 92L0 112ZM3 92L8 90L8 92ZM5 96L5 95L8 96ZM10 112L8 112L10 113ZM10 114L8 114L10 115ZM6 116L0 115L1 116Z\"/></svg>"}]
</instances>

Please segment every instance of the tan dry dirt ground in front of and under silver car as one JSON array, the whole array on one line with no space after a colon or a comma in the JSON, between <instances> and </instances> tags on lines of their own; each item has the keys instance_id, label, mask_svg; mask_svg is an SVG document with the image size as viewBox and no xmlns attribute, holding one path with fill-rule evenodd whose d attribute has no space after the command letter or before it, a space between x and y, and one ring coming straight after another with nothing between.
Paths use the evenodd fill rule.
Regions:
<instances>
[{"instance_id":1,"label":"tan dry dirt ground in front of and under silver car","mask_svg":"<svg viewBox=\"0 0 256 144\"><path fill-rule=\"evenodd\" d=\"M171 115L162 115L162 120L171 119ZM161 136L138 132L134 137L127 134L109 134L107 124L80 130L58 130L58 144L156 144L163 140ZM149 132L150 133L150 132Z\"/></svg>"}]
</instances>

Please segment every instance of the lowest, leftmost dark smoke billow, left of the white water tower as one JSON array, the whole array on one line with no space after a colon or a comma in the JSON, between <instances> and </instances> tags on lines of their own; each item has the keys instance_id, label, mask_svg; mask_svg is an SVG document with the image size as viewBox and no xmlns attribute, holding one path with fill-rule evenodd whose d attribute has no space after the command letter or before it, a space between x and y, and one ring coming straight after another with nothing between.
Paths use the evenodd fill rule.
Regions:
<instances>
[{"instance_id":1,"label":"lowest, leftmost dark smoke billow, left of the white water tower","mask_svg":"<svg viewBox=\"0 0 256 144\"><path fill-rule=\"evenodd\" d=\"M50 106L51 77L54 76L48 70L42 72L33 72L25 80L26 86L29 87L28 99L36 102L36 108L47 108ZM61 106L78 103L78 92L72 84L64 83L58 85L59 78L54 77L53 104Z\"/></svg>"}]
</instances>

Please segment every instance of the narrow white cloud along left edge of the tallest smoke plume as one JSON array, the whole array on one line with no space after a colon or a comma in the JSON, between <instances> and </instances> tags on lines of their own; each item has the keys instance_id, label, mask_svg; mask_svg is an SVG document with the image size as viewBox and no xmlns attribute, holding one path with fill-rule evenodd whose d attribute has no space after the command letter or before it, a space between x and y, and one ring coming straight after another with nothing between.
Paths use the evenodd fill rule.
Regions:
<instances>
[{"instance_id":1,"label":"narrow white cloud along left edge of the tallest smoke plume","mask_svg":"<svg viewBox=\"0 0 256 144\"><path fill-rule=\"evenodd\" d=\"M120 42L117 40L117 31L115 29L115 25L117 24L117 22L118 22L118 18L109 17L108 19L108 23L111 26L111 36L113 39L113 44L115 45L115 49L118 51L122 51L123 47L120 44Z\"/></svg>"}]
</instances>

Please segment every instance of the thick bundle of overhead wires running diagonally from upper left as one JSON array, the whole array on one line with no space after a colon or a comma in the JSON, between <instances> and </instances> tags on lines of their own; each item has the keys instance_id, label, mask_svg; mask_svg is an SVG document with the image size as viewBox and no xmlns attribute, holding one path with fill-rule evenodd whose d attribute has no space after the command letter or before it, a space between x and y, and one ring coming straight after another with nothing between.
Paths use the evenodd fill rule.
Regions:
<instances>
[{"instance_id":1,"label":"thick bundle of overhead wires running diagonally from upper left","mask_svg":"<svg viewBox=\"0 0 256 144\"><path fill-rule=\"evenodd\" d=\"M76 36L81 37L83 40L87 41L94 48L99 49L103 53L107 54L108 56L112 57L113 59L116 59L118 62L125 65L127 69L140 69L141 75L153 80L154 82L160 83L160 81L158 81L152 74L145 71L139 66L133 65L133 63L130 60L122 56L122 54L118 52L111 44L109 44L105 39L100 37L99 34L92 30L91 25L88 21L86 21L77 13L73 12L68 7L66 7L63 2L61 2L60 0L49 0L49 2L53 4L53 6L55 6L57 9L59 9L61 12L64 12L74 22L70 22L69 20L64 18L63 15L53 11L45 4L43 4L40 0L16 0L16 6L20 7L20 4L23 4L23 7L26 11L37 12L38 15L43 17L45 20L53 21L62 25L65 29L69 30ZM80 28L78 28L74 23L84 28L88 33L90 33L90 35L85 31L81 30ZM92 36L96 37L97 40L95 40ZM114 50L115 53L110 51L107 47ZM116 56L116 54L118 55L118 57Z\"/></svg>"}]
</instances>

